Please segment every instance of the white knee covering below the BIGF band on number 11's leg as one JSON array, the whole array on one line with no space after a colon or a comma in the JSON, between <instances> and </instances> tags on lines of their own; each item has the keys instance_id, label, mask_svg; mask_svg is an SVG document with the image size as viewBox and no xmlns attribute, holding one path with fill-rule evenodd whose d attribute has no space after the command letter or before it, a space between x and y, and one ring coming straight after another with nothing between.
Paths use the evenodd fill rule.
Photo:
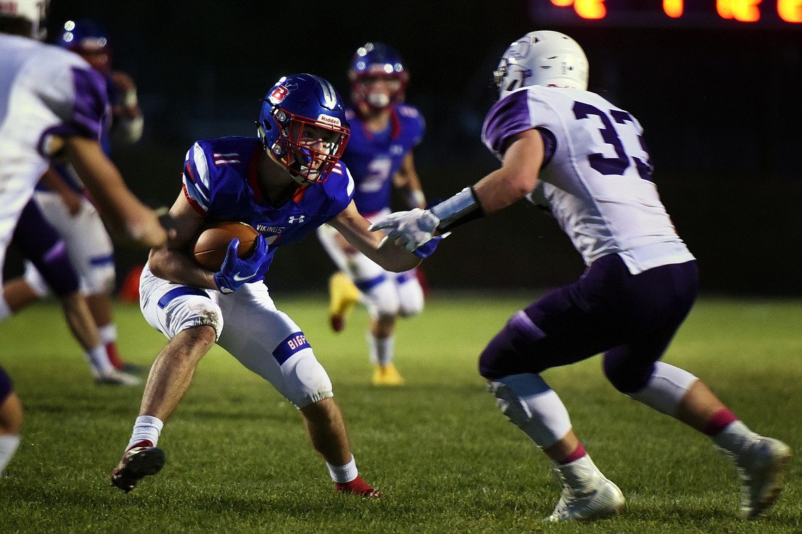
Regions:
<instances>
[{"instance_id":1,"label":"white knee covering below the BIGF band on number 11's leg","mask_svg":"<svg viewBox=\"0 0 802 534\"><path fill-rule=\"evenodd\" d=\"M282 363L281 393L299 410L334 396L326 369L311 348L298 351Z\"/></svg>"}]
</instances>

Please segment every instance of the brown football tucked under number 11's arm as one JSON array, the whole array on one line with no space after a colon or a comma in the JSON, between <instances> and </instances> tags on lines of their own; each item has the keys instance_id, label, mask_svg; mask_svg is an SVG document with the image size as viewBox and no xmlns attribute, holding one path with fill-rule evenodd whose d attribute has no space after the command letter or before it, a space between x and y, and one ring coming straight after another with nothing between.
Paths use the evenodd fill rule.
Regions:
<instances>
[{"instance_id":1,"label":"brown football tucked under number 11's arm","mask_svg":"<svg viewBox=\"0 0 802 534\"><path fill-rule=\"evenodd\" d=\"M211 223L201 228L197 237L189 243L189 249L198 265L217 272L220 271L232 239L240 240L237 256L245 259L253 254L257 235L259 232L249 224L237 221Z\"/></svg>"}]
</instances>

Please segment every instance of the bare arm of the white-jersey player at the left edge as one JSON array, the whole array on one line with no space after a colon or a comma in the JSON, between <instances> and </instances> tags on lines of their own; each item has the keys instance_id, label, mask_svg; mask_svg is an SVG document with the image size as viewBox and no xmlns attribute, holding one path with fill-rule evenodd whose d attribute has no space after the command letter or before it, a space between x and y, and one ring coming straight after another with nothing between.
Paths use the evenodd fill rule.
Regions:
<instances>
[{"instance_id":1,"label":"bare arm of the white-jersey player at the left edge","mask_svg":"<svg viewBox=\"0 0 802 534\"><path fill-rule=\"evenodd\" d=\"M64 139L63 153L118 239L140 247L164 247L168 233L156 212L128 189L97 141L68 137Z\"/></svg>"}]
</instances>

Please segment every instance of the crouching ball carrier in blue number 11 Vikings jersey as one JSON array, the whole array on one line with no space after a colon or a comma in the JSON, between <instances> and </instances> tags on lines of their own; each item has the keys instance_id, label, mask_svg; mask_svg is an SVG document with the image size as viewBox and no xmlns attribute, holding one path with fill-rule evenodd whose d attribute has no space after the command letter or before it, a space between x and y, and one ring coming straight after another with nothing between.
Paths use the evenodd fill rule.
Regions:
<instances>
[{"instance_id":1,"label":"crouching ball carrier in blue number 11 Vikings jersey","mask_svg":"<svg viewBox=\"0 0 802 534\"><path fill-rule=\"evenodd\" d=\"M262 283L279 247L330 223L365 255L391 271L408 271L419 255L381 247L352 196L340 161L349 129L334 86L312 74L278 80L261 106L258 137L196 142L184 163L184 187L170 210L177 237L151 251L140 281L140 305L170 340L156 357L131 440L111 475L128 492L160 471L156 447L164 421L214 343L290 400L326 460L335 487L366 497L378 492L359 475L331 381L300 327L279 311ZM240 221L259 231L253 255L237 257L238 239L217 272L200 267L187 245L205 223Z\"/></svg>"}]
</instances>

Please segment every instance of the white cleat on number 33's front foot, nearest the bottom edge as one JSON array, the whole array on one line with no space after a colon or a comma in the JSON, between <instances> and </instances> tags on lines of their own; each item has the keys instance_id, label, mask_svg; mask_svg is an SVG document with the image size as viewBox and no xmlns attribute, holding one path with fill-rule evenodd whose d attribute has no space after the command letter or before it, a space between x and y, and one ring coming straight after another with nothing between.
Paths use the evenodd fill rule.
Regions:
<instances>
[{"instance_id":1,"label":"white cleat on number 33's front foot, nearest the bottom edge","mask_svg":"<svg viewBox=\"0 0 802 534\"><path fill-rule=\"evenodd\" d=\"M547 521L592 521L614 516L626 500L618 486L607 480L589 456L553 468L562 495Z\"/></svg>"}]
</instances>

